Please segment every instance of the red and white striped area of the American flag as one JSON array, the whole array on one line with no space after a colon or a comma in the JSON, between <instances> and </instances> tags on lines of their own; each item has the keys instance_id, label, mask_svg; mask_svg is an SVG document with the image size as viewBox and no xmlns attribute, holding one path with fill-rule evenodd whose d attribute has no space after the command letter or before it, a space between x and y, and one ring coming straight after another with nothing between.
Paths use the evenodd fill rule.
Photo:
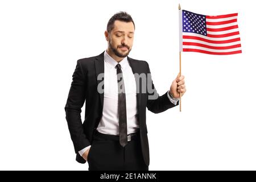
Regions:
<instances>
[{"instance_id":1,"label":"red and white striped area of the American flag","mask_svg":"<svg viewBox=\"0 0 256 182\"><path fill-rule=\"evenodd\" d=\"M212 55L242 53L237 15L206 16L207 36L183 32L183 51Z\"/></svg>"}]
</instances>

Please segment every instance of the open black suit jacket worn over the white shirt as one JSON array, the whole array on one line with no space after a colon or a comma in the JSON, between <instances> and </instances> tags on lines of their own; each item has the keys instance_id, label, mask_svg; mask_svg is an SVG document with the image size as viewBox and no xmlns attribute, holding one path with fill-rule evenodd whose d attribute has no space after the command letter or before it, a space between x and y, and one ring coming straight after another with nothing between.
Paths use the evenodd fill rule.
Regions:
<instances>
[{"instance_id":1,"label":"open black suit jacket worn over the white shirt","mask_svg":"<svg viewBox=\"0 0 256 182\"><path fill-rule=\"evenodd\" d=\"M133 73L150 73L150 68L146 61L135 60L127 57ZM76 160L79 163L85 163L86 160L79 155L80 150L89 146L93 140L93 133L97 129L98 123L102 117L102 108L104 104L104 93L97 92L97 86L102 80L97 80L98 75L104 73L104 52L95 57L88 57L77 61L73 80L69 90L67 104L65 105L66 119L68 122L69 133L75 147ZM147 79L152 82L151 77ZM136 80L137 89L142 88L142 81ZM156 93L154 85L152 89ZM137 118L140 127L141 147L143 159L146 165L150 163L147 125L146 125L146 107L153 113L160 113L175 105L168 99L168 92L163 96L157 95L154 100L148 99L153 93L137 92ZM85 102L85 120L81 122L81 107ZM177 105L179 102L177 103Z\"/></svg>"}]
</instances>

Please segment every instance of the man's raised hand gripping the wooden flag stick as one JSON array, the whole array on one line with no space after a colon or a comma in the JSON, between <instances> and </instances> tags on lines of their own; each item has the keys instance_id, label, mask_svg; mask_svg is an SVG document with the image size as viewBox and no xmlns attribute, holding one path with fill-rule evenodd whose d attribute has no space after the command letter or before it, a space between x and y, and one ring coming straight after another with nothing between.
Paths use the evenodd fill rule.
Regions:
<instances>
[{"instance_id":1,"label":"man's raised hand gripping the wooden flag stick","mask_svg":"<svg viewBox=\"0 0 256 182\"><path fill-rule=\"evenodd\" d=\"M172 81L172 85L169 91L174 98L180 98L180 93L181 93L181 96L183 96L184 93L186 92L184 76L183 75L179 76L179 75L175 78L174 81Z\"/></svg>"}]
</instances>

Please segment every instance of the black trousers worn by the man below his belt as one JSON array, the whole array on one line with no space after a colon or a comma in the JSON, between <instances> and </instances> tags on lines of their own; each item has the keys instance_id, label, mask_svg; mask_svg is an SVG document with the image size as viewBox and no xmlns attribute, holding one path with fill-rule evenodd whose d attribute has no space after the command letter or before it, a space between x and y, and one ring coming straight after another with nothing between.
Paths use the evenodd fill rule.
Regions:
<instances>
[{"instance_id":1,"label":"black trousers worn by the man below his belt","mask_svg":"<svg viewBox=\"0 0 256 182\"><path fill-rule=\"evenodd\" d=\"M139 132L122 147L119 136L102 134L96 130L87 162L89 171L148 171L142 156Z\"/></svg>"}]
</instances>

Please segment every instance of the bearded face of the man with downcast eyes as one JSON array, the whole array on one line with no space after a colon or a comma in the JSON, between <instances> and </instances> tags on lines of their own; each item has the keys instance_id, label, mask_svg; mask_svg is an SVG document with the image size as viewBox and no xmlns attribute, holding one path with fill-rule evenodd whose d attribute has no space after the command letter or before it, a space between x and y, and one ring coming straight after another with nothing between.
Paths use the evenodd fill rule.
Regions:
<instances>
[{"instance_id":1,"label":"bearded face of the man with downcast eyes","mask_svg":"<svg viewBox=\"0 0 256 182\"><path fill-rule=\"evenodd\" d=\"M133 22L115 20L114 28L106 36L109 48L118 57L126 57L133 47L134 25Z\"/></svg>"}]
</instances>

